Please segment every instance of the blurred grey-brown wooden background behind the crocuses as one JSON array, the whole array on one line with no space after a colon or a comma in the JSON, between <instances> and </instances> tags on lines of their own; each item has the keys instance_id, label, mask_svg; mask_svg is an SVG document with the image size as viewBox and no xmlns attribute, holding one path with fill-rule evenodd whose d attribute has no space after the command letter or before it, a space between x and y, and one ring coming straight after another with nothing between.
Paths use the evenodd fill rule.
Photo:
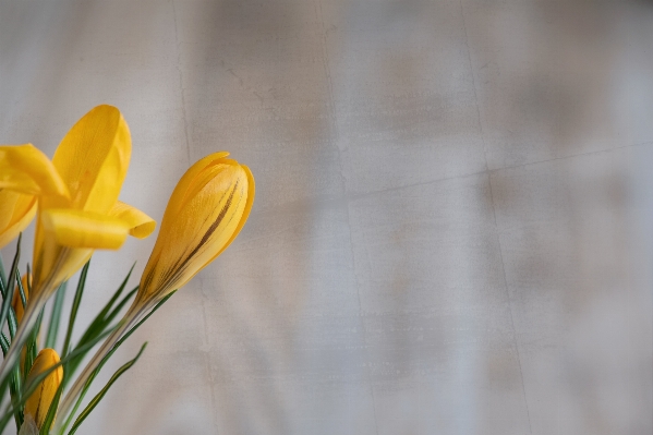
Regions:
<instances>
[{"instance_id":1,"label":"blurred grey-brown wooden background behind the crocuses","mask_svg":"<svg viewBox=\"0 0 653 435\"><path fill-rule=\"evenodd\" d=\"M216 150L257 195L81 433L653 433L653 2L0 1L0 142L99 104L155 219Z\"/></svg>"}]
</instances>

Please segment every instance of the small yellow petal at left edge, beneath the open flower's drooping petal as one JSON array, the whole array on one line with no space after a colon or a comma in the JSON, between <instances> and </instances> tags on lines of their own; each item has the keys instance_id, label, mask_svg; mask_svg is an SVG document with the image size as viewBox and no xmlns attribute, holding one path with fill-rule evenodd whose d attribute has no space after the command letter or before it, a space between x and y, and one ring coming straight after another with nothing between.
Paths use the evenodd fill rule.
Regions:
<instances>
[{"instance_id":1,"label":"small yellow petal at left edge, beneath the open flower's drooping petal","mask_svg":"<svg viewBox=\"0 0 653 435\"><path fill-rule=\"evenodd\" d=\"M0 249L23 231L36 214L36 196L0 189Z\"/></svg>"}]
</instances>

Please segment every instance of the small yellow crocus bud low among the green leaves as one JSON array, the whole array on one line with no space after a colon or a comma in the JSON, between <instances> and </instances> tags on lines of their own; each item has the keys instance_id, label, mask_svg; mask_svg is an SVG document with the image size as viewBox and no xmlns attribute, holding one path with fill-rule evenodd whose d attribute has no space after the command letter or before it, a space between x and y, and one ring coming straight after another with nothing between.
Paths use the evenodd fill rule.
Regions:
<instances>
[{"instance_id":1,"label":"small yellow crocus bud low among the green leaves","mask_svg":"<svg viewBox=\"0 0 653 435\"><path fill-rule=\"evenodd\" d=\"M57 363L59 363L59 355L53 349L48 348L41 350L38 352L38 355L29 370L27 383ZM48 409L50 408L50 403L52 402L62 379L63 368L59 366L46 376L25 402L25 415L31 415L39 428L45 423Z\"/></svg>"}]
</instances>

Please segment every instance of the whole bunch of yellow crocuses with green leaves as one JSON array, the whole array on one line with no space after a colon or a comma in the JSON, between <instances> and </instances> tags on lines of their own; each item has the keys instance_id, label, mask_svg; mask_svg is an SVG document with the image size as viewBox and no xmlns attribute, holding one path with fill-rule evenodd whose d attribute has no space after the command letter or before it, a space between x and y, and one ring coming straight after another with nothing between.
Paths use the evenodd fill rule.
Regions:
<instances>
[{"instance_id":1,"label":"whole bunch of yellow crocuses with green leaves","mask_svg":"<svg viewBox=\"0 0 653 435\"><path fill-rule=\"evenodd\" d=\"M184 173L166 207L140 286L123 294L128 274L73 343L94 250L118 250L128 234L142 239L155 229L150 217L118 200L131 156L129 128L117 108L98 106L69 131L52 160L32 144L0 146L0 247L17 238L11 265L4 267L0 258L4 355L0 433L12 419L21 435L75 433L116 379L136 362L146 343L93 399L84 401L118 347L220 255L245 223L254 202L254 179L246 166L228 155L206 156ZM32 270L27 265L21 274L20 234L35 217ZM63 322L66 281L80 269L70 318ZM51 309L44 314L52 297ZM68 329L58 352L61 323ZM84 357L100 342L77 374Z\"/></svg>"}]
</instances>

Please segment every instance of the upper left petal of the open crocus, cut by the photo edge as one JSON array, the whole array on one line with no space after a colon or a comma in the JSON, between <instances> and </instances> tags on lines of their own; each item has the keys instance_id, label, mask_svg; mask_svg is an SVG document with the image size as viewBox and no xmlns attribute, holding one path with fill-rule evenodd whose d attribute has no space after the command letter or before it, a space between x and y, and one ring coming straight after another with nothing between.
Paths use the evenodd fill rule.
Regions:
<instances>
[{"instance_id":1,"label":"upper left petal of the open crocus, cut by the photo edge","mask_svg":"<svg viewBox=\"0 0 653 435\"><path fill-rule=\"evenodd\" d=\"M32 144L0 146L0 189L31 195L69 196L50 159Z\"/></svg>"}]
</instances>

